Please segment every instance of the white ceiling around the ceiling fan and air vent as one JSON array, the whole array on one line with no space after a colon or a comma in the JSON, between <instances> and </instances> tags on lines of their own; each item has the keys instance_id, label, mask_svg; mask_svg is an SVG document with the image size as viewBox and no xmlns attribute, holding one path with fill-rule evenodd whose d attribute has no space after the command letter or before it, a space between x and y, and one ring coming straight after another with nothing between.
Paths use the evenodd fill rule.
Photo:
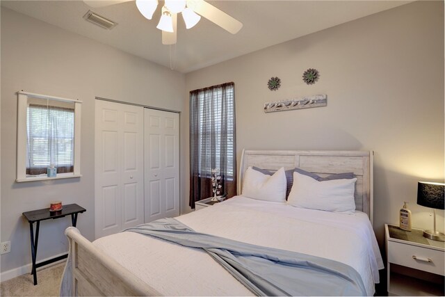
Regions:
<instances>
[{"instance_id":1,"label":"white ceiling around the ceiling fan and air vent","mask_svg":"<svg viewBox=\"0 0 445 297\"><path fill-rule=\"evenodd\" d=\"M177 45L171 48L162 45L161 31L156 29L161 2L152 20L140 15L134 1L90 8L83 1L1 0L1 6L187 73L411 1L208 2L242 22L241 31L232 35L203 17L186 30L179 16ZM106 30L86 22L83 15L88 10L118 26Z\"/></svg>"}]
</instances>

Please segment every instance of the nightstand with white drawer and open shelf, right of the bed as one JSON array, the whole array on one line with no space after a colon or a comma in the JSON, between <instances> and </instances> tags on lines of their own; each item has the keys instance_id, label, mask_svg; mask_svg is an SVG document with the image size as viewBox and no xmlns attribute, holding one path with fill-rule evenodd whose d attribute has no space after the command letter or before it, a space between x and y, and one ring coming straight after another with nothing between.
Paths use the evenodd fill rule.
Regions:
<instances>
[{"instance_id":1,"label":"nightstand with white drawer and open shelf, right of the bed","mask_svg":"<svg viewBox=\"0 0 445 297\"><path fill-rule=\"evenodd\" d=\"M445 244L385 224L388 296L444 296Z\"/></svg>"}]
</instances>

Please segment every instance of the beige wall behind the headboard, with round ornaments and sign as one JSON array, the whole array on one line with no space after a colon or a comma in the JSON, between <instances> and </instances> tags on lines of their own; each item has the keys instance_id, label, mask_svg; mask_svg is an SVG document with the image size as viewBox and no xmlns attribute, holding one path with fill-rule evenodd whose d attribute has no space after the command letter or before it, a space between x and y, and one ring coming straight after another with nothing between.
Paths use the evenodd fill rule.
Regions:
<instances>
[{"instance_id":1,"label":"beige wall behind the headboard, with round ornaments and sign","mask_svg":"<svg viewBox=\"0 0 445 297\"><path fill-rule=\"evenodd\" d=\"M312 86L302 81L307 68L321 75ZM275 76L282 87L271 92L266 83ZM186 91L227 81L235 83L238 163L243 148L374 150L380 243L404 200L414 226L432 227L416 186L444 180L443 1L410 3L188 73ZM327 94L326 107L263 111L264 102L316 94Z\"/></svg>"}]
</instances>

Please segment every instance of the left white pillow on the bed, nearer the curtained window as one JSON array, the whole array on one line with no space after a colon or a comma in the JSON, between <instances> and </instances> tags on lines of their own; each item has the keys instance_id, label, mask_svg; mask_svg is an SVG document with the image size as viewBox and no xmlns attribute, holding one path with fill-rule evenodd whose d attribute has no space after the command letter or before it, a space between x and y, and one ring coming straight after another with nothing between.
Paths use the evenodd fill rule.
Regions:
<instances>
[{"instance_id":1,"label":"left white pillow on the bed, nearer the curtained window","mask_svg":"<svg viewBox=\"0 0 445 297\"><path fill-rule=\"evenodd\" d=\"M258 200L285 202L286 185L283 167L273 175L265 175L249 167L244 174L243 196Z\"/></svg>"}]
</instances>

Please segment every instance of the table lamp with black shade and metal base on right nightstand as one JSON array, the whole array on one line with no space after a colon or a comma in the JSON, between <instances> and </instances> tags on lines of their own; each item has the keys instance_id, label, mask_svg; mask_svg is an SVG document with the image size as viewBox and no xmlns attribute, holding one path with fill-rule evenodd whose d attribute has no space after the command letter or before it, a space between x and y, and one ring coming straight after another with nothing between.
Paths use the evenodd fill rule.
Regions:
<instances>
[{"instance_id":1,"label":"table lamp with black shade and metal base on right nightstand","mask_svg":"<svg viewBox=\"0 0 445 297\"><path fill-rule=\"evenodd\" d=\"M423 236L436 241L445 241L445 234L436 231L436 209L444 209L444 186L437 182L419 182L417 186L417 204L434 211L434 230L423 231Z\"/></svg>"}]
</instances>

